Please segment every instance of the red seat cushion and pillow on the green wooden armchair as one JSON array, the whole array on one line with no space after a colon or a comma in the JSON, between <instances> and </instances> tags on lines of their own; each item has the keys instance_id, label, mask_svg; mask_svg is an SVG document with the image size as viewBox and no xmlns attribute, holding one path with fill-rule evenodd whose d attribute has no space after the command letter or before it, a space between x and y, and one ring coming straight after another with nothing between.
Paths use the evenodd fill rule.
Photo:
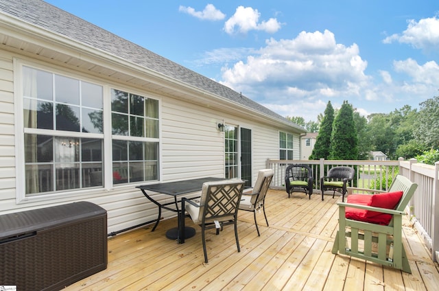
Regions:
<instances>
[{"instance_id":1,"label":"red seat cushion and pillow on the green wooden armchair","mask_svg":"<svg viewBox=\"0 0 439 291\"><path fill-rule=\"evenodd\" d=\"M401 200L402 196L403 191L379 193L374 195L353 194L348 196L346 202L358 205L368 205L372 207L394 209L396 205L398 205L399 200ZM366 209L346 207L346 218L351 220L388 225L390 220L392 219L392 215Z\"/></svg>"}]
</instances>

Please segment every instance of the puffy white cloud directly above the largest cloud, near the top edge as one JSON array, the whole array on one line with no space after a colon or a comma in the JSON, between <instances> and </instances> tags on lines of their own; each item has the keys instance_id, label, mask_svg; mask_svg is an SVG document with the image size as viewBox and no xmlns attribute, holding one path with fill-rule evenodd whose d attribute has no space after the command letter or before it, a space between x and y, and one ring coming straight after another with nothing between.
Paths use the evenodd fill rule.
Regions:
<instances>
[{"instance_id":1,"label":"puffy white cloud directly above the largest cloud, near the top edge","mask_svg":"<svg viewBox=\"0 0 439 291\"><path fill-rule=\"evenodd\" d=\"M281 23L276 19L259 22L261 14L257 9L251 7L239 6L235 14L224 23L224 31L227 34L246 34L250 30L262 30L268 33L274 33L281 29Z\"/></svg>"}]
</instances>

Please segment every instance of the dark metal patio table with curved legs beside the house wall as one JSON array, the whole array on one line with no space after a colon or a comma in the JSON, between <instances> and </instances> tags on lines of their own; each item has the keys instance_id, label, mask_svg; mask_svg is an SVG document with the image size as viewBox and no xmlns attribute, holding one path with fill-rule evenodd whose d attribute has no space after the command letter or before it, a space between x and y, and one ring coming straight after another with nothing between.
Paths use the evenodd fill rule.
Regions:
<instances>
[{"instance_id":1,"label":"dark metal patio table with curved legs beside the house wall","mask_svg":"<svg viewBox=\"0 0 439 291\"><path fill-rule=\"evenodd\" d=\"M184 209L182 210L178 208L178 205L180 204L180 200L178 200L178 196L189 194L195 191L201 191L203 183L205 182L222 181L222 180L224 180L224 178L205 177L205 178L195 178L195 179L184 180L184 181L165 182L165 183L137 186L136 188L141 189L143 195L145 195L145 197L148 198L148 200L150 200L151 202L153 202L155 205L158 206L158 216L156 219L156 224L154 224L152 231L156 230L156 227L158 226L158 222L160 222L162 209L174 211L177 213L178 227L169 229L166 232L166 237L169 238L170 240L178 240L178 243L180 243L180 238L178 237L179 227L180 227L180 211L184 211ZM174 196L174 201L167 203L158 202L151 196L152 193L167 194L170 196ZM193 237L194 235L195 235L195 229L191 226L185 226L185 238Z\"/></svg>"}]
</instances>

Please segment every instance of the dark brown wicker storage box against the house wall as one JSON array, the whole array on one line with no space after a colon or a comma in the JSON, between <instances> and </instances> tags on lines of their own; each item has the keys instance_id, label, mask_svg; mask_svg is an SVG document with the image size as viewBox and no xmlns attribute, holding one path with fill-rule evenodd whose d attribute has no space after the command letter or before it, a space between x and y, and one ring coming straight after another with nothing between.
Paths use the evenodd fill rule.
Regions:
<instances>
[{"instance_id":1,"label":"dark brown wicker storage box against the house wall","mask_svg":"<svg viewBox=\"0 0 439 291\"><path fill-rule=\"evenodd\" d=\"M0 286L60 290L107 266L107 213L75 202L0 216Z\"/></svg>"}]
</instances>

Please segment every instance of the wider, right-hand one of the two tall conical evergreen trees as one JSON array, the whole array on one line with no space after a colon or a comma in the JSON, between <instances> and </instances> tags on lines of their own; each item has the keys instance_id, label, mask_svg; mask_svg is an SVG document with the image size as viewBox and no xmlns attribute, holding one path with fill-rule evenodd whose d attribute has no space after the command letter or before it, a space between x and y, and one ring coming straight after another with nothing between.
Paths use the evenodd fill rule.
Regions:
<instances>
[{"instance_id":1,"label":"wider, right-hand one of the two tall conical evergreen trees","mask_svg":"<svg viewBox=\"0 0 439 291\"><path fill-rule=\"evenodd\" d=\"M344 101L334 119L330 154L332 160L358 159L358 135L353 112L352 105Z\"/></svg>"}]
</instances>

